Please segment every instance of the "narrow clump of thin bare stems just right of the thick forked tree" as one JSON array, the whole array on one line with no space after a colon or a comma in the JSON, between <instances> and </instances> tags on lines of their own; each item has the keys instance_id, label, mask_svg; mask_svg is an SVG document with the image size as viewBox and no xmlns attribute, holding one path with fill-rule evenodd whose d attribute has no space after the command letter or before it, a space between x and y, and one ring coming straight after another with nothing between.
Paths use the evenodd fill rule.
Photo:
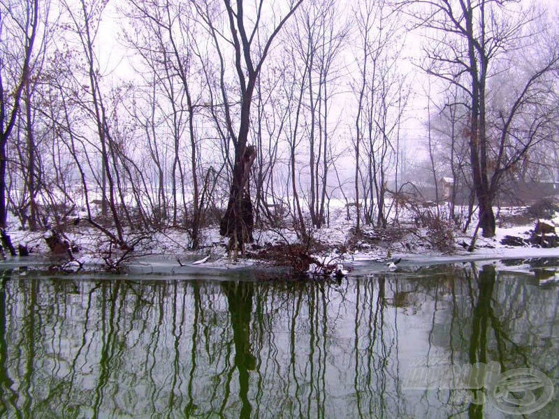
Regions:
<instances>
[{"instance_id":1,"label":"narrow clump of thin bare stems just right of the thick forked tree","mask_svg":"<svg viewBox=\"0 0 559 419\"><path fill-rule=\"evenodd\" d=\"M289 42L296 52L298 66L306 75L303 96L305 118L300 119L308 142L309 213L312 224L320 228L326 222L328 174L333 115L331 107L340 85L340 55L349 32L349 24L340 20L335 1L310 2L293 20Z\"/></svg>"}]
</instances>

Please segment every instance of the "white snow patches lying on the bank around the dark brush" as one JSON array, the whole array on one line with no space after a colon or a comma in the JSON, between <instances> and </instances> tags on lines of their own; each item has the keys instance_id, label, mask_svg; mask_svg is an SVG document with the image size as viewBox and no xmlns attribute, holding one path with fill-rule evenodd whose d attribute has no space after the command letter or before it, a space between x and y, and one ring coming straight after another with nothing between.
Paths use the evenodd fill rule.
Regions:
<instances>
[{"instance_id":1,"label":"white snow patches lying on the bank around the dark brush","mask_svg":"<svg viewBox=\"0 0 559 419\"><path fill-rule=\"evenodd\" d=\"M518 211L518 209L516 209ZM504 214L504 212L501 212ZM559 226L559 218L554 220ZM466 234L458 231L453 232L453 249L440 251L430 244L427 228L415 228L408 223L407 228L402 224L394 237L384 235L378 240L357 240L351 233L354 221L346 220L346 211L342 203L333 205L330 214L330 226L310 231L314 242L321 244L319 247L311 247L314 258L324 265L335 266L342 264L351 270L352 265L361 263L378 263L380 269L389 269L386 263L394 259L402 259L402 267L409 264L426 263L453 263L468 260L502 260L507 258L547 258L559 257L559 248L542 249L539 247L512 247L501 243L507 235L528 239L535 227L536 220L530 220L520 226L503 226L497 229L497 235L490 239L479 235L474 251L465 249L465 244L470 244L473 230ZM553 221L551 221L553 222ZM219 236L217 228L203 230L202 248L198 251L189 251L189 240L187 233L183 230L167 229L143 235L131 235L130 239L137 239L138 243L134 251L127 253L124 261L119 262L122 251L110 247L107 237L94 228L83 226L72 226L65 233L68 241L80 248L75 253L75 259L87 269L99 269L107 267L115 262L128 266L136 272L150 273L177 273L194 272L208 269L246 269L262 263L254 260L239 258L232 260L226 252L226 240ZM475 225L475 220L472 222ZM365 233L375 234L376 230L367 230ZM402 233L403 232L403 233ZM30 233L29 231L8 230L13 244L17 247L22 244L35 255L44 256L45 260L52 263L52 257L45 243L45 232ZM293 230L259 230L254 231L255 248L269 247L276 244L294 244L297 242L296 233ZM111 254L108 254L111 249ZM247 249L252 250L252 249ZM35 256L36 258L36 256ZM64 259L64 256L62 257ZM14 258L7 256L5 263L14 263ZM22 260L23 262L23 260ZM64 263L64 262L62 262ZM76 265L78 266L78 265ZM74 269L75 266L68 265ZM392 267L393 268L393 267Z\"/></svg>"}]
</instances>

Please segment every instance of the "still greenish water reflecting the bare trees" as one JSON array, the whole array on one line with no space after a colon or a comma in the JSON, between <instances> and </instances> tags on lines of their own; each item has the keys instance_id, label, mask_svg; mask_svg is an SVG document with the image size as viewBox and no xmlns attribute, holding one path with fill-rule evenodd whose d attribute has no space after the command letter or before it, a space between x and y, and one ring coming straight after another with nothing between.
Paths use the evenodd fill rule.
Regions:
<instances>
[{"instance_id":1,"label":"still greenish water reflecting the bare trees","mask_svg":"<svg viewBox=\"0 0 559 419\"><path fill-rule=\"evenodd\" d=\"M477 362L541 372L551 401L525 417L557 417L559 286L542 279L559 264L507 265L341 281L4 270L0 417L500 418L507 395L549 396L444 385ZM435 381L412 380L425 370Z\"/></svg>"}]
</instances>

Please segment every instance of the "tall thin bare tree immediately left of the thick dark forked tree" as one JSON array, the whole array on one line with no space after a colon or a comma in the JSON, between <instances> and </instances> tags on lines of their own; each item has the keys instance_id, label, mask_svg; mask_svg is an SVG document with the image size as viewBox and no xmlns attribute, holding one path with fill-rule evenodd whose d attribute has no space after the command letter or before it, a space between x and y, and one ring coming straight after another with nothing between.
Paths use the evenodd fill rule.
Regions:
<instances>
[{"instance_id":1,"label":"tall thin bare tree immediately left of the thick dark forked tree","mask_svg":"<svg viewBox=\"0 0 559 419\"><path fill-rule=\"evenodd\" d=\"M164 140L162 129L168 127L173 139L171 145L172 162L170 163L170 199L172 200L172 220L177 226L178 196L182 196L184 216L189 212L189 219L185 225L189 226L191 247L197 249L200 244L200 230L203 218L201 206L201 186L198 179L199 145L195 128L197 110L200 108L201 83L196 78L194 61L197 45L196 28L191 7L180 1L166 0L161 3L152 1L130 0L131 10L126 12L133 25L127 35L129 43L142 58L151 75L148 84L157 91L152 95L153 105L157 108L157 118L153 105L148 115L138 115L152 141L150 149L152 156L160 160L157 143ZM159 103L159 96L166 100ZM154 131L154 122L158 120L159 129ZM159 121L160 120L160 121ZM187 136L189 165L184 167L181 154L184 152L182 143ZM157 139L156 139L157 138ZM159 170L159 177L164 177L163 170ZM161 195L164 193L167 179L161 179ZM191 182L191 188L185 188L185 182ZM191 205L187 205L185 194L191 192Z\"/></svg>"}]
</instances>

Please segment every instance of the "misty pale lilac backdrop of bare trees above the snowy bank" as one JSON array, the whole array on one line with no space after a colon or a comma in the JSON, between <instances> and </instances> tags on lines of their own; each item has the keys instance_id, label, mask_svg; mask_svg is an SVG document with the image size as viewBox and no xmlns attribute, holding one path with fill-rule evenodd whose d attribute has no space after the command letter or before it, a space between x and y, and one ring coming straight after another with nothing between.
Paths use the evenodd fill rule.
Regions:
<instances>
[{"instance_id":1,"label":"misty pale lilac backdrop of bare trees above the snowy bank","mask_svg":"<svg viewBox=\"0 0 559 419\"><path fill-rule=\"evenodd\" d=\"M431 200L491 237L511 185L558 177L556 12L1 0L0 226L81 214L122 249L168 226L196 249L219 225L236 252L255 225L307 237L332 200L356 230Z\"/></svg>"}]
</instances>

